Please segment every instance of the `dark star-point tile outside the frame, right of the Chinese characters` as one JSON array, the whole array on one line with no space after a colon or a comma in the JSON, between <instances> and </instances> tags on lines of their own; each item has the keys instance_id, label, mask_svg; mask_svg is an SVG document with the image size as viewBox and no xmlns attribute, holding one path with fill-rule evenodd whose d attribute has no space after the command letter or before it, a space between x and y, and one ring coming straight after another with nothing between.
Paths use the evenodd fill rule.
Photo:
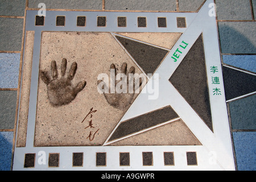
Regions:
<instances>
[{"instance_id":1,"label":"dark star-point tile outside the frame, right of the Chinese characters","mask_svg":"<svg viewBox=\"0 0 256 182\"><path fill-rule=\"evenodd\" d=\"M226 100L231 100L256 91L256 76L222 67Z\"/></svg>"}]
</instances>

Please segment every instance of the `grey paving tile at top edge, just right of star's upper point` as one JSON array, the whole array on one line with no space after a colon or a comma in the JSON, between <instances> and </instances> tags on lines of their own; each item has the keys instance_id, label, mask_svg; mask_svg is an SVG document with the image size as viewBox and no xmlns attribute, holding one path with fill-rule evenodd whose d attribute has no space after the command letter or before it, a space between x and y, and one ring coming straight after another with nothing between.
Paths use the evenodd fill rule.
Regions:
<instances>
[{"instance_id":1,"label":"grey paving tile at top edge, just right of star's upper point","mask_svg":"<svg viewBox=\"0 0 256 182\"><path fill-rule=\"evenodd\" d=\"M219 20L251 20L249 0L216 0Z\"/></svg>"}]
</instances>

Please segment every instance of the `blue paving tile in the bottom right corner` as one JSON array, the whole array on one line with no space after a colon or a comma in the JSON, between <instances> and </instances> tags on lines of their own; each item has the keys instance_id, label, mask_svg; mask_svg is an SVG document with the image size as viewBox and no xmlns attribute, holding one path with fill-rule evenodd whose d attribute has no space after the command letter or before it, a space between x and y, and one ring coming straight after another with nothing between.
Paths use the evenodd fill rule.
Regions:
<instances>
[{"instance_id":1,"label":"blue paving tile in the bottom right corner","mask_svg":"<svg viewBox=\"0 0 256 182\"><path fill-rule=\"evenodd\" d=\"M238 171L255 171L256 132L234 132L233 140Z\"/></svg>"}]
</instances>

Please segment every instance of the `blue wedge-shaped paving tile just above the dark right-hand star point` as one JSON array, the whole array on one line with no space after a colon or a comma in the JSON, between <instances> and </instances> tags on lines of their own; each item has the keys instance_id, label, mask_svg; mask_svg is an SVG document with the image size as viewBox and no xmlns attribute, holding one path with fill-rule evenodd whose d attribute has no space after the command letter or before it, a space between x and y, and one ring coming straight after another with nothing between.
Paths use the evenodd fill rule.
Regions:
<instances>
[{"instance_id":1,"label":"blue wedge-shaped paving tile just above the dark right-hand star point","mask_svg":"<svg viewBox=\"0 0 256 182\"><path fill-rule=\"evenodd\" d=\"M256 55L223 55L223 62L256 73Z\"/></svg>"}]
</instances>

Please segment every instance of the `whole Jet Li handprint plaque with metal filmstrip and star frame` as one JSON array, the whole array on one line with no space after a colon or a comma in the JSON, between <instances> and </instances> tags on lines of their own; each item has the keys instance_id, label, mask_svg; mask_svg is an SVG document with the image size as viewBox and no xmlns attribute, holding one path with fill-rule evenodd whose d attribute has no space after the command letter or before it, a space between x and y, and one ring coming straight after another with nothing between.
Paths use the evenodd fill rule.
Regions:
<instances>
[{"instance_id":1,"label":"whole Jet Li handprint plaque with metal filmstrip and star frame","mask_svg":"<svg viewBox=\"0 0 256 182\"><path fill-rule=\"evenodd\" d=\"M14 170L233 170L210 3L28 10Z\"/></svg>"}]
</instances>

